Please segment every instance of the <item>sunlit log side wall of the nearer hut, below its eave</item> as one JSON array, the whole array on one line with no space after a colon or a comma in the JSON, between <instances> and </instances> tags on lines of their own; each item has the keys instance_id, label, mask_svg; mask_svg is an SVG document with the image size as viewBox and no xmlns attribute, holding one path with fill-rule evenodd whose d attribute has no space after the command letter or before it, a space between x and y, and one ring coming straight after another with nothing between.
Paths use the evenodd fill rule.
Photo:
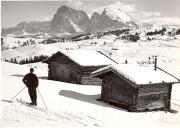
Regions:
<instances>
[{"instance_id":1,"label":"sunlit log side wall of the nearer hut, below its eave","mask_svg":"<svg viewBox=\"0 0 180 128\"><path fill-rule=\"evenodd\" d=\"M144 85L139 88L137 110L170 109L171 85Z\"/></svg>"}]
</instances>

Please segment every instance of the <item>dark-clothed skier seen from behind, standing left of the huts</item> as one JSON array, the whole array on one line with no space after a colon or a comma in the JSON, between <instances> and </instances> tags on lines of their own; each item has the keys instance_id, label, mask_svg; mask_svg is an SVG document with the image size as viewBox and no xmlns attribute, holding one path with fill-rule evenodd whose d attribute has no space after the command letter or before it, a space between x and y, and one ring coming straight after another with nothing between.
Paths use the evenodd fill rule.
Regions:
<instances>
[{"instance_id":1,"label":"dark-clothed skier seen from behind, standing left of the huts","mask_svg":"<svg viewBox=\"0 0 180 128\"><path fill-rule=\"evenodd\" d=\"M37 93L36 88L38 87L39 81L37 76L33 73L34 69L30 68L30 73L26 74L23 78L23 83L28 88L29 96L31 98L30 105L37 105Z\"/></svg>"}]
</instances>

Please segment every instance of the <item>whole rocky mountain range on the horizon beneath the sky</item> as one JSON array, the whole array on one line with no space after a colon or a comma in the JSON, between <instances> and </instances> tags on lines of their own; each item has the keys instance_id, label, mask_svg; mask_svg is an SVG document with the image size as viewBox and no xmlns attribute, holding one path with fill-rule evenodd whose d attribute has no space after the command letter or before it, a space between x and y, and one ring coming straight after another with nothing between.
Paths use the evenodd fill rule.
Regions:
<instances>
[{"instance_id":1,"label":"whole rocky mountain range on the horizon beneath the sky","mask_svg":"<svg viewBox=\"0 0 180 128\"><path fill-rule=\"evenodd\" d=\"M113 11L116 12L115 15ZM1 34L21 36L25 32L28 36L28 34L48 33L51 36L63 37L78 33L117 30L124 27L138 27L138 25L120 9L105 8L101 14L94 12L89 18L85 11L63 5L57 9L50 21L20 22L15 27L2 29Z\"/></svg>"}]
</instances>

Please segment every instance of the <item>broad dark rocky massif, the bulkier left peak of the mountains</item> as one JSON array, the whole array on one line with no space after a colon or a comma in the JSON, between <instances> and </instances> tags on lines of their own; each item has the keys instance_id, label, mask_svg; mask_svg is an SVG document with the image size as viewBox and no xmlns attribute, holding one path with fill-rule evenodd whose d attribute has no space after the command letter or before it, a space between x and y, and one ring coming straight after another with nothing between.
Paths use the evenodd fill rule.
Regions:
<instances>
[{"instance_id":1,"label":"broad dark rocky massif, the bulkier left peak of the mountains","mask_svg":"<svg viewBox=\"0 0 180 128\"><path fill-rule=\"evenodd\" d=\"M89 17L84 11L75 10L63 5L54 15L51 27L57 33L68 32L73 34L75 32L84 32L84 25L88 21Z\"/></svg>"}]
</instances>

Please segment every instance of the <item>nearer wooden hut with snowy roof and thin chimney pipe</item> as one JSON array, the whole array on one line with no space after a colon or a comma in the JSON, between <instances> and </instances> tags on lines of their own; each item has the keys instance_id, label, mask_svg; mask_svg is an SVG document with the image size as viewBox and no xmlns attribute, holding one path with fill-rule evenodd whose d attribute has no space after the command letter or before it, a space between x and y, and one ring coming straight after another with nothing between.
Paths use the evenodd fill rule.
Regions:
<instances>
[{"instance_id":1,"label":"nearer wooden hut with snowy roof and thin chimney pipe","mask_svg":"<svg viewBox=\"0 0 180 128\"><path fill-rule=\"evenodd\" d=\"M91 74L102 79L101 100L129 111L169 110L174 77L152 66L118 64Z\"/></svg>"}]
</instances>

